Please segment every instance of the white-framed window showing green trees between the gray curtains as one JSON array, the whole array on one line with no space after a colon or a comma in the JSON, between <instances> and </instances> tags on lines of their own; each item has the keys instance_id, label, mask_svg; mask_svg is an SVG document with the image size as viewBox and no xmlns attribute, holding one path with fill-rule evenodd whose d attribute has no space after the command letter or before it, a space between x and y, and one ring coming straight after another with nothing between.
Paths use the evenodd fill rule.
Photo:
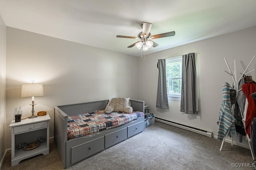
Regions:
<instances>
[{"instance_id":1,"label":"white-framed window showing green trees between the gray curtains","mask_svg":"<svg viewBox=\"0 0 256 170\"><path fill-rule=\"evenodd\" d=\"M182 56L172 57L166 62L166 85L169 100L180 100L182 81Z\"/></svg>"}]
</instances>

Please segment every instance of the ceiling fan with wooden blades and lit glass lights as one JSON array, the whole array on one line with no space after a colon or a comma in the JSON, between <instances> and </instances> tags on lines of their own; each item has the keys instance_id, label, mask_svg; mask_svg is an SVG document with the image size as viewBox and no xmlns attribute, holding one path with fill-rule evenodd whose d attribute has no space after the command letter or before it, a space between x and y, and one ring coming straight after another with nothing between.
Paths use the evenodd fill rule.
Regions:
<instances>
[{"instance_id":1,"label":"ceiling fan with wooden blades and lit glass lights","mask_svg":"<svg viewBox=\"0 0 256 170\"><path fill-rule=\"evenodd\" d=\"M171 37L175 35L175 31L151 35L150 29L151 29L152 23L144 22L140 26L142 27L142 32L138 34L138 37L124 36L124 35L116 35L116 37L140 39L140 41L133 43L132 45L128 46L128 48L131 48L134 45L136 45L138 49L141 49L142 47L143 51L147 51L148 49L150 49L150 47L157 47L159 45L158 43L155 43L154 41L152 41L152 39Z\"/></svg>"}]
</instances>

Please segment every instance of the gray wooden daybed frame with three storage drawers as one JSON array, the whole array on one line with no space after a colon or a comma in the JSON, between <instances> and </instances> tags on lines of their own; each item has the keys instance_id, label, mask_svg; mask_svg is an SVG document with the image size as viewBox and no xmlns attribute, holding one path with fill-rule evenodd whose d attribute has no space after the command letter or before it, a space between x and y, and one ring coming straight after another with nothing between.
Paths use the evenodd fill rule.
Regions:
<instances>
[{"instance_id":1,"label":"gray wooden daybed frame with three storage drawers","mask_svg":"<svg viewBox=\"0 0 256 170\"><path fill-rule=\"evenodd\" d=\"M54 142L64 168L68 168L94 154L144 131L144 117L97 133L68 139L68 116L104 110L109 100L54 107ZM130 100L131 107L144 113L144 101Z\"/></svg>"}]
</instances>

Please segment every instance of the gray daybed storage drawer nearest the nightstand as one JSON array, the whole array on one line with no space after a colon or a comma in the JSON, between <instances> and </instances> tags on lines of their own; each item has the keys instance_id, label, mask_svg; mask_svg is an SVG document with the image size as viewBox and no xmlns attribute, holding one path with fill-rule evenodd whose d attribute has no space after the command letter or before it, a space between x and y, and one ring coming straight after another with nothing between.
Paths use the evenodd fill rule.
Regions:
<instances>
[{"instance_id":1,"label":"gray daybed storage drawer nearest the nightstand","mask_svg":"<svg viewBox=\"0 0 256 170\"><path fill-rule=\"evenodd\" d=\"M104 150L104 136L71 148L71 164Z\"/></svg>"}]
</instances>

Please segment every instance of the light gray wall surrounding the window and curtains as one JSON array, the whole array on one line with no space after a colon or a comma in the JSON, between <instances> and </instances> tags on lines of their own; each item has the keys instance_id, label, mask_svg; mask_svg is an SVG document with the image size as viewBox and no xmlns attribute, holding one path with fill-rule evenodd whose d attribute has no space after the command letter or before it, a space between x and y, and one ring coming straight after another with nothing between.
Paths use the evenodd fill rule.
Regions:
<instances>
[{"instance_id":1,"label":"light gray wall surrounding the window and curtains","mask_svg":"<svg viewBox=\"0 0 256 170\"><path fill-rule=\"evenodd\" d=\"M228 68L224 58L227 59L230 68L234 71L234 60L238 78L254 55L256 45L256 27L250 27L240 31L205 39L195 43L182 45L158 53L146 55L146 60L139 60L139 100L144 100L150 105L152 113L156 117L167 119L184 125L212 131L216 137L218 131L218 113L222 102L222 86L224 82L230 84L233 80L223 70ZM187 115L180 112L180 101L169 100L169 109L156 108L156 91L158 80L158 59L176 57L187 53L198 52L198 82L199 82L199 114ZM252 62L248 71L256 68L256 59ZM256 80L256 71L250 75ZM235 137L238 145L239 138ZM242 146L248 147L248 142L243 139Z\"/></svg>"}]
</instances>

